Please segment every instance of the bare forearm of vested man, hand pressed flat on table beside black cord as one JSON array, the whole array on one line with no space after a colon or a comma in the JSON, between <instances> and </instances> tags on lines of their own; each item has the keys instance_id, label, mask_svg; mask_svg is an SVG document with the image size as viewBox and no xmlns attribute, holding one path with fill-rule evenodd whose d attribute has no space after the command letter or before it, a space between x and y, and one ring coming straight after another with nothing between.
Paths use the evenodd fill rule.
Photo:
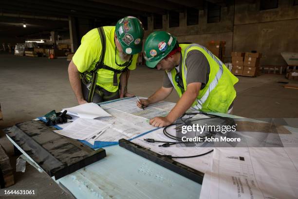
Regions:
<instances>
[{"instance_id":1,"label":"bare forearm of vested man, hand pressed flat on table beside black cord","mask_svg":"<svg viewBox=\"0 0 298 199\"><path fill-rule=\"evenodd\" d=\"M187 85L187 89L181 96L174 108L169 112L166 117L155 117L150 119L149 123L155 127L168 126L176 119L182 116L187 109L189 109L192 103L196 100L201 89L201 82L194 82Z\"/></svg>"}]
</instances>

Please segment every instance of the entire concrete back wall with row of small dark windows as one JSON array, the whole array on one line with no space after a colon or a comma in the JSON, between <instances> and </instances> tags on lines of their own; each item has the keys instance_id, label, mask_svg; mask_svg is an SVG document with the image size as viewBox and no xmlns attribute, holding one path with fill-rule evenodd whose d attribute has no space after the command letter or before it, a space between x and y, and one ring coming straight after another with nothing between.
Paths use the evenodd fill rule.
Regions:
<instances>
[{"instance_id":1,"label":"entire concrete back wall with row of small dark windows","mask_svg":"<svg viewBox=\"0 0 298 199\"><path fill-rule=\"evenodd\" d=\"M207 23L207 8L199 11L199 24L186 25L186 13L180 13L180 26L168 27L168 16L163 16L163 29L153 30L153 18L148 18L147 37L151 32L165 30L179 42L202 45L210 40L226 41L225 61L232 51L257 50L263 54L262 65L285 65L280 52L298 52L298 6L294 0L279 0L279 8L260 11L260 0L236 0L221 8L221 21Z\"/></svg>"}]
</instances>

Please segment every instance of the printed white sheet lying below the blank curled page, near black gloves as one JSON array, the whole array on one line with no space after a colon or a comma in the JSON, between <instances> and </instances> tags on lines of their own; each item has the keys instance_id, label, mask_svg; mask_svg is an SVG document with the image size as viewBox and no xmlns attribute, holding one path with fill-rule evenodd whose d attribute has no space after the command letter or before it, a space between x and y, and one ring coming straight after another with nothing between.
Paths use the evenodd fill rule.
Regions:
<instances>
[{"instance_id":1,"label":"printed white sheet lying below the blank curled page, near black gloves","mask_svg":"<svg viewBox=\"0 0 298 199\"><path fill-rule=\"evenodd\" d=\"M107 129L111 124L97 119L75 119L62 130L54 132L73 139L89 139L97 133Z\"/></svg>"}]
</instances>

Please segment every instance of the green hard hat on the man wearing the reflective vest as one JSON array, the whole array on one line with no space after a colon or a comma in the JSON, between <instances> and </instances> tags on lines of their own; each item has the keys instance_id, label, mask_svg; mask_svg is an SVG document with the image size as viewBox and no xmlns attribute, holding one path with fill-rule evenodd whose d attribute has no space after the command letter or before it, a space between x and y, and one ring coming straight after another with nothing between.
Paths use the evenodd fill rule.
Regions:
<instances>
[{"instance_id":1,"label":"green hard hat on the man wearing the reflective vest","mask_svg":"<svg viewBox=\"0 0 298 199\"><path fill-rule=\"evenodd\" d=\"M146 65L149 68L154 68L173 50L176 41L177 39L166 31L151 33L144 45Z\"/></svg>"}]
</instances>

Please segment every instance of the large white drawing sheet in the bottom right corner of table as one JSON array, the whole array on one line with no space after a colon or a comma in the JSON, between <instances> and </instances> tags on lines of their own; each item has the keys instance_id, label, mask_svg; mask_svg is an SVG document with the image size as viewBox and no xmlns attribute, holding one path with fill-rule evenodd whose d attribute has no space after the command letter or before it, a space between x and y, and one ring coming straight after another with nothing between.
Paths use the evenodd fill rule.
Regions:
<instances>
[{"instance_id":1,"label":"large white drawing sheet in the bottom right corner of table","mask_svg":"<svg viewBox=\"0 0 298 199\"><path fill-rule=\"evenodd\" d=\"M289 154L287 148L215 148L209 198L297 199L298 171Z\"/></svg>"}]
</instances>

